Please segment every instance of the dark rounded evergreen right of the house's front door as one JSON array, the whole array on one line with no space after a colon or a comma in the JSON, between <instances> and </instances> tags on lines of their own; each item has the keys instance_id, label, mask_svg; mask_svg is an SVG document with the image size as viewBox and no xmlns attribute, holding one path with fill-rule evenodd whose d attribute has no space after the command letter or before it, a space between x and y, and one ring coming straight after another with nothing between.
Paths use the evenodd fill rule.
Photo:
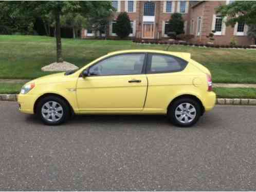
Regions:
<instances>
[{"instance_id":1,"label":"dark rounded evergreen right of the house's front door","mask_svg":"<svg viewBox=\"0 0 256 192\"><path fill-rule=\"evenodd\" d=\"M184 20L182 19L182 15L180 13L172 14L169 23L168 23L168 34L179 35L184 33Z\"/></svg>"}]
</instances>

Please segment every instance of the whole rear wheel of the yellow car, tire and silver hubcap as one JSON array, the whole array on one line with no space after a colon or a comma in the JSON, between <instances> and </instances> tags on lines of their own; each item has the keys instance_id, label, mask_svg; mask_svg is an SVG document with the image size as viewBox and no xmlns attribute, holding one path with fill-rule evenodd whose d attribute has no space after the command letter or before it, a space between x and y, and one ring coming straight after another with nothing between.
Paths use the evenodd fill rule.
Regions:
<instances>
[{"instance_id":1,"label":"whole rear wheel of the yellow car, tire and silver hubcap","mask_svg":"<svg viewBox=\"0 0 256 192\"><path fill-rule=\"evenodd\" d=\"M174 125L190 127L199 120L201 113L202 109L198 101L191 98L180 98L169 106L167 116Z\"/></svg>"}]
</instances>

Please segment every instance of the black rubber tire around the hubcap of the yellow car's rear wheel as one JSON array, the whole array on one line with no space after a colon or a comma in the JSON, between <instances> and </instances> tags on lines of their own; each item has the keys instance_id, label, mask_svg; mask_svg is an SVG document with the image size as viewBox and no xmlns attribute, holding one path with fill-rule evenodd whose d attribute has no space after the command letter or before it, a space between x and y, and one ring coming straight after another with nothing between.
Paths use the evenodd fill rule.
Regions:
<instances>
[{"instance_id":1,"label":"black rubber tire around the hubcap of the yellow car's rear wheel","mask_svg":"<svg viewBox=\"0 0 256 192\"><path fill-rule=\"evenodd\" d=\"M195 110L196 110L196 116L195 118L193 119L193 121L189 122L189 123L181 123L177 120L176 116L175 116L175 110L177 108L178 105L180 105L181 103L190 103L194 106ZM180 126L180 127L189 127L189 126L192 126L194 125L198 119L200 118L201 116L201 106L200 104L198 103L198 101L194 100L194 99L191 99L191 98L180 98L180 99L177 99L175 100L169 107L168 109L168 117L170 119L170 121L177 125L177 126Z\"/></svg>"}]
</instances>

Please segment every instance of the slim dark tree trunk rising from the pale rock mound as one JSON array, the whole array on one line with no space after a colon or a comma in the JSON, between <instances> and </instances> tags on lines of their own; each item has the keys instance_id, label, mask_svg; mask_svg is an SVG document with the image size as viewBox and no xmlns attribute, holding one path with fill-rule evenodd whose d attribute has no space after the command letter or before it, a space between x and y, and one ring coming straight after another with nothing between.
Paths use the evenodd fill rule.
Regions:
<instances>
[{"instance_id":1,"label":"slim dark tree trunk rising from the pale rock mound","mask_svg":"<svg viewBox=\"0 0 256 192\"><path fill-rule=\"evenodd\" d=\"M57 45L57 62L63 62L62 50L61 50L61 24L60 24L60 12L55 14L56 20L56 45Z\"/></svg>"}]
</instances>

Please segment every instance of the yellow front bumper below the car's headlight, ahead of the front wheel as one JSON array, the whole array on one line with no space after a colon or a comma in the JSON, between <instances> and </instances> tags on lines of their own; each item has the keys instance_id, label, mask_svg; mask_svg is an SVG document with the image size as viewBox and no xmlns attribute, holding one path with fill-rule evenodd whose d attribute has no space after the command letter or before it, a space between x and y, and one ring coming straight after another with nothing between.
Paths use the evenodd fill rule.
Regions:
<instances>
[{"instance_id":1,"label":"yellow front bumper below the car's headlight, ahead of the front wheel","mask_svg":"<svg viewBox=\"0 0 256 192\"><path fill-rule=\"evenodd\" d=\"M34 103L38 95L34 94L19 94L17 101L19 103L19 110L22 113L34 114Z\"/></svg>"}]
</instances>

